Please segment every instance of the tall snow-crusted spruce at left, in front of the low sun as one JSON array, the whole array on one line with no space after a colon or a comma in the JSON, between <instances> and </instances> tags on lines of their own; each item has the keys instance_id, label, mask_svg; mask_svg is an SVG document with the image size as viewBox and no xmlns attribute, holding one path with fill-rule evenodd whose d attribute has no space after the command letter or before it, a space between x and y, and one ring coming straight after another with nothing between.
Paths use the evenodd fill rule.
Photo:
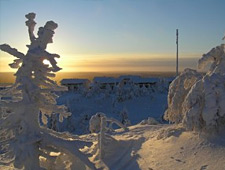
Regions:
<instances>
[{"instance_id":1,"label":"tall snow-crusted spruce at left, in front of the low sun","mask_svg":"<svg viewBox=\"0 0 225 170\"><path fill-rule=\"evenodd\" d=\"M38 36L35 37L35 14L29 13L26 18L31 40L31 44L27 45L27 54L24 55L7 44L0 46L2 51L17 58L10 67L18 69L15 84L2 91L0 96L12 96L11 101L0 101L0 163L5 166L13 164L18 169L39 170L50 166L55 169L56 165L63 166L67 162L67 166L73 169L79 159L83 166L95 169L78 148L88 142L79 141L76 136L71 135L68 139L66 134L40 127L39 114L42 114L42 121L46 124L45 115L57 113L62 121L70 113L65 106L56 105L57 96L52 91L59 90L60 87L49 78L60 70L55 60L59 55L46 51L47 44L52 43L57 24L48 21L44 27L39 28ZM51 66L44 64L44 60L48 60ZM56 154L52 155L52 152Z\"/></svg>"}]
</instances>

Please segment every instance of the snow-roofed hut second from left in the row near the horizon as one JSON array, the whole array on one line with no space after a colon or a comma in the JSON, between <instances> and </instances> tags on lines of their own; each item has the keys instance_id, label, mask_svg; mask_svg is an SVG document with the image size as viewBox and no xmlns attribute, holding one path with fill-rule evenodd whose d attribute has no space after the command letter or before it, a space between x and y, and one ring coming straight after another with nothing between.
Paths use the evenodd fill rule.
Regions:
<instances>
[{"instance_id":1,"label":"snow-roofed hut second from left in the row near the horizon","mask_svg":"<svg viewBox=\"0 0 225 170\"><path fill-rule=\"evenodd\" d=\"M119 80L114 77L95 77L93 85L98 85L101 89L106 89L107 86L112 90L119 84Z\"/></svg>"}]
</instances>

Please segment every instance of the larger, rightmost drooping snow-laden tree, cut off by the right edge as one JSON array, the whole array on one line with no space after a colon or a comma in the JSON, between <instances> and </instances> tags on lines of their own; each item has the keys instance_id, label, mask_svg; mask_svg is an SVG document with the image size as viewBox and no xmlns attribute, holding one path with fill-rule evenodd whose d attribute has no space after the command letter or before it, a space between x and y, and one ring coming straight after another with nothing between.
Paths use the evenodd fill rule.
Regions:
<instances>
[{"instance_id":1,"label":"larger, rightmost drooping snow-laden tree, cut off by the right edge","mask_svg":"<svg viewBox=\"0 0 225 170\"><path fill-rule=\"evenodd\" d=\"M211 67L194 84L183 103L187 129L214 131L225 126L225 44L203 55L198 65Z\"/></svg>"}]
</instances>

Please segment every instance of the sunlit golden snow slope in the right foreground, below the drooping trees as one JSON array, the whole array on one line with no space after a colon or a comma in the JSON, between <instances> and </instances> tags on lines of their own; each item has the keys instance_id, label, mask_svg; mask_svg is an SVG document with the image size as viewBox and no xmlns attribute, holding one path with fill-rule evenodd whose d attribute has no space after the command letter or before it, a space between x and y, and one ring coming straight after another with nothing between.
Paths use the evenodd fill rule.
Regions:
<instances>
[{"instance_id":1,"label":"sunlit golden snow slope in the right foreground, below the drooping trees","mask_svg":"<svg viewBox=\"0 0 225 170\"><path fill-rule=\"evenodd\" d=\"M175 125L135 125L111 137L103 162L95 160L97 134L81 138L95 144L83 152L94 155L98 168L112 170L224 170L225 135L207 138Z\"/></svg>"}]
</instances>

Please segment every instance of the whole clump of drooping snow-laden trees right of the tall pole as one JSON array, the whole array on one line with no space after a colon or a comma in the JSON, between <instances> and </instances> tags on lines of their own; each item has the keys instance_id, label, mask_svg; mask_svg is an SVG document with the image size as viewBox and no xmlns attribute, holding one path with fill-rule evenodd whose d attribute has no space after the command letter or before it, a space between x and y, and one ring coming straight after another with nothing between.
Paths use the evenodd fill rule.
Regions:
<instances>
[{"instance_id":1,"label":"whole clump of drooping snow-laden trees right of the tall pole","mask_svg":"<svg viewBox=\"0 0 225 170\"><path fill-rule=\"evenodd\" d=\"M204 54L198 66L204 68L210 63L207 73L201 78L195 76L195 81L191 83L184 82L187 71L174 80L168 95L167 120L182 122L188 130L213 132L225 127L224 44ZM177 88L178 80L183 82L180 88Z\"/></svg>"}]
</instances>

